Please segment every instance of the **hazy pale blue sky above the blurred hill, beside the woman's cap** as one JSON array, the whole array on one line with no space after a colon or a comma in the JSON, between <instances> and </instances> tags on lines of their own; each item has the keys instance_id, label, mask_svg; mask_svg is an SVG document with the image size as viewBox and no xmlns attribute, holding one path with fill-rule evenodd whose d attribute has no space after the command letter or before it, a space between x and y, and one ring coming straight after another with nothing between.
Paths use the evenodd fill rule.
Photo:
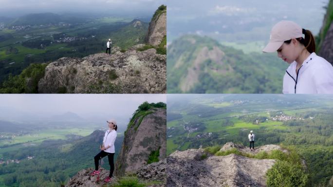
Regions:
<instances>
[{"instance_id":1,"label":"hazy pale blue sky above the blurred hill, beside the woman's cap","mask_svg":"<svg viewBox=\"0 0 333 187\"><path fill-rule=\"evenodd\" d=\"M293 20L316 35L327 4L328 0L168 0L167 39L184 34L225 39L224 33L238 33L232 37L266 40L282 19Z\"/></svg>"}]
</instances>

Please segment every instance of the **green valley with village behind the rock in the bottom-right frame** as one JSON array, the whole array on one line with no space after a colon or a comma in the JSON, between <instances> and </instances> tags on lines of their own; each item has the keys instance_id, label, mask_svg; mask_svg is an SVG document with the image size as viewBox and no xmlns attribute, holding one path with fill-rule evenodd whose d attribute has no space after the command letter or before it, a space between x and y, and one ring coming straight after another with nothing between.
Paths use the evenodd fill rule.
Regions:
<instances>
[{"instance_id":1,"label":"green valley with village behind the rock in the bottom-right frame","mask_svg":"<svg viewBox=\"0 0 333 187\"><path fill-rule=\"evenodd\" d=\"M333 100L327 95L226 94L168 99L167 154L232 141L295 149L309 167L309 184L333 176ZM311 186L310 185L310 186Z\"/></svg>"}]
</instances>

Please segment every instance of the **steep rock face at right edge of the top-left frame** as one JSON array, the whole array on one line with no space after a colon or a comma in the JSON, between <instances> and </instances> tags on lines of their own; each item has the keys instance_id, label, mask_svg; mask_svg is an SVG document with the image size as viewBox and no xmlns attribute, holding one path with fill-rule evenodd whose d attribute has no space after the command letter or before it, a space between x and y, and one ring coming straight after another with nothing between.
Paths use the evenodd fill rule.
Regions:
<instances>
[{"instance_id":1,"label":"steep rock face at right edge of the top-left frame","mask_svg":"<svg viewBox=\"0 0 333 187\"><path fill-rule=\"evenodd\" d=\"M166 6L162 5L156 10L149 23L148 33L145 38L146 43L158 46L163 37L166 36Z\"/></svg>"}]
</instances>

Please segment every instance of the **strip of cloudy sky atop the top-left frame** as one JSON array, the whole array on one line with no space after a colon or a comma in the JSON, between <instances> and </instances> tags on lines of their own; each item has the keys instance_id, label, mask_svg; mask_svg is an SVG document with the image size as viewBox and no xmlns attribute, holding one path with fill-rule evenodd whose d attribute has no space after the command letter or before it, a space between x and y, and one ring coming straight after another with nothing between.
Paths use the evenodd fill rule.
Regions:
<instances>
[{"instance_id":1,"label":"strip of cloudy sky atop the top-left frame","mask_svg":"<svg viewBox=\"0 0 333 187\"><path fill-rule=\"evenodd\" d=\"M0 0L0 16L28 13L103 13L141 16L153 14L166 0Z\"/></svg>"}]
</instances>

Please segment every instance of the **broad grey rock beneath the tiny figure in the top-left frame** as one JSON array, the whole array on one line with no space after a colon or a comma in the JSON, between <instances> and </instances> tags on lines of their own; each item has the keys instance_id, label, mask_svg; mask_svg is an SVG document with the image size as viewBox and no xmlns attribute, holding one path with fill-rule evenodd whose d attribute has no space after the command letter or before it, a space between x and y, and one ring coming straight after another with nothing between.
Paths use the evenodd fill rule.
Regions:
<instances>
[{"instance_id":1,"label":"broad grey rock beneath the tiny figure in the top-left frame","mask_svg":"<svg viewBox=\"0 0 333 187\"><path fill-rule=\"evenodd\" d=\"M166 55L143 44L112 55L62 57L50 63L38 82L39 93L166 93Z\"/></svg>"}]
</instances>

